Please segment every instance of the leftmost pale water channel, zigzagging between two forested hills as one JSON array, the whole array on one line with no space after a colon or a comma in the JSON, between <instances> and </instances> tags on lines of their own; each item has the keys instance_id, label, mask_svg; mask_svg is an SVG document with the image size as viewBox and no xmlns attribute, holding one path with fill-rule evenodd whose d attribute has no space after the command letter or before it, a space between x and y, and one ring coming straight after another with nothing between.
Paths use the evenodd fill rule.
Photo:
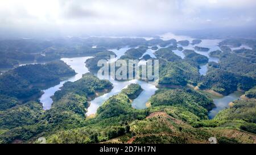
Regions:
<instances>
[{"instance_id":1,"label":"leftmost pale water channel, zigzagging between two forested hills","mask_svg":"<svg viewBox=\"0 0 256 155\"><path fill-rule=\"evenodd\" d=\"M51 108L53 100L51 96L54 95L55 91L60 90L60 87L67 81L77 81L82 77L82 74L88 73L89 70L85 67L84 62L91 57L73 57L73 58L61 58L66 64L68 64L75 72L77 73L75 76L61 81L59 85L50 87L49 89L43 90L44 94L40 97L40 102L43 103L43 109L48 110Z\"/></svg>"}]
</instances>

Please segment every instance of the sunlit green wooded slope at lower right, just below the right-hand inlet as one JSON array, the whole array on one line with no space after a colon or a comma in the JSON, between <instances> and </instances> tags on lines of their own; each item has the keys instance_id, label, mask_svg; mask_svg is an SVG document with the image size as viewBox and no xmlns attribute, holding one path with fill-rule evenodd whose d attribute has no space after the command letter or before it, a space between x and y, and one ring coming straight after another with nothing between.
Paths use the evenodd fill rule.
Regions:
<instances>
[{"instance_id":1,"label":"sunlit green wooded slope at lower right, just below the right-hand inlet","mask_svg":"<svg viewBox=\"0 0 256 155\"><path fill-rule=\"evenodd\" d=\"M236 100L230 104L229 108L220 111L214 119L194 122L192 123L193 127L210 127L214 128L214 130L215 128L233 128L256 133L255 103L255 99ZM238 141L240 140L238 139ZM223 143L228 143L228 141Z\"/></svg>"}]
</instances>

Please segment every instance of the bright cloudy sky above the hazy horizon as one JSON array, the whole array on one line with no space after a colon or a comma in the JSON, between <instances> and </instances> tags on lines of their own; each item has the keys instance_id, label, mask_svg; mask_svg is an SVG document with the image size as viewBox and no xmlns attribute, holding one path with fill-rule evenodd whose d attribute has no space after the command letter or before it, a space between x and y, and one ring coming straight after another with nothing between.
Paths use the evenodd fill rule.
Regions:
<instances>
[{"instance_id":1,"label":"bright cloudy sky above the hazy horizon","mask_svg":"<svg viewBox=\"0 0 256 155\"><path fill-rule=\"evenodd\" d=\"M255 0L0 0L0 35L134 35L256 27Z\"/></svg>"}]
</instances>

